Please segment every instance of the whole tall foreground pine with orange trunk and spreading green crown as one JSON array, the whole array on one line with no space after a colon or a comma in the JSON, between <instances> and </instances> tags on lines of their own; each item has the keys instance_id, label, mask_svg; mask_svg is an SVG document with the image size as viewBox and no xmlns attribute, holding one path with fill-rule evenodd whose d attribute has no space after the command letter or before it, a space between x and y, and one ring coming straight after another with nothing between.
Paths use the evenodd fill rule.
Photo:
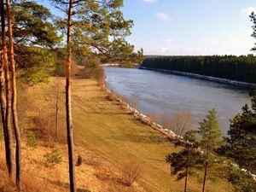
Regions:
<instances>
[{"instance_id":1,"label":"whole tall foreground pine with orange trunk and spreading green crown","mask_svg":"<svg viewBox=\"0 0 256 192\"><path fill-rule=\"evenodd\" d=\"M73 162L73 124L71 107L71 67L73 51L81 55L89 53L110 56L110 50L123 50L122 53L132 56L133 46L125 42L129 35L131 21L124 20L120 11L122 0L51 0L55 8L65 12L66 18L59 20L59 26L67 29L67 62L66 62L66 113L67 143L69 156L70 190L76 191L75 169ZM119 37L119 38L118 38ZM113 38L113 42L109 39ZM115 44L114 44L115 43ZM110 49L113 48L114 49ZM137 55L141 55L139 51ZM133 54L133 56L135 56ZM114 55L119 57L119 55ZM127 57L125 57L127 58Z\"/></svg>"}]
</instances>

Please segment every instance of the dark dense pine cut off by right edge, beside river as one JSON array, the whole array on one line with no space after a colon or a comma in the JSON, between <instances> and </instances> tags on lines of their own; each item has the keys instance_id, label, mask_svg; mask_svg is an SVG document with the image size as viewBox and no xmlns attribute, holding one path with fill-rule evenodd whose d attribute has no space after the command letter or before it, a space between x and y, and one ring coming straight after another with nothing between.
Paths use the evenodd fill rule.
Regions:
<instances>
[{"instance_id":1,"label":"dark dense pine cut off by right edge, beside river","mask_svg":"<svg viewBox=\"0 0 256 192\"><path fill-rule=\"evenodd\" d=\"M230 120L228 137L224 137L224 153L252 173L256 173L256 90L250 96L251 109L246 104L241 113Z\"/></svg>"}]
</instances>

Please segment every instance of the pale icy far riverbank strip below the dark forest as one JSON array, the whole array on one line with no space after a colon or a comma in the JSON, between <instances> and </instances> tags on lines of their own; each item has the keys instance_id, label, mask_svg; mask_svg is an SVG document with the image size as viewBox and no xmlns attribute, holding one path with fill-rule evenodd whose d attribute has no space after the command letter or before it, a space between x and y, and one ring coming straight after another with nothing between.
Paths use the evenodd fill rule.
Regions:
<instances>
[{"instance_id":1,"label":"pale icy far riverbank strip below the dark forest","mask_svg":"<svg viewBox=\"0 0 256 192\"><path fill-rule=\"evenodd\" d=\"M212 82L221 83L221 84L232 84L232 85L236 85L236 86L244 87L244 88L248 88L248 89L252 88L255 85L255 84L250 84L250 83L235 81L235 80L230 80L230 79L220 79L220 78L205 76L205 75L201 75L201 74L185 73L185 72L172 71L172 70L159 69L159 68L152 68L152 67L139 67L139 69L151 70L151 71L157 71L157 72L164 72L164 73L172 73L172 74L176 74L176 75L182 75L182 76L187 76L187 77L190 77L190 78L207 80L207 81L212 81Z\"/></svg>"}]
</instances>

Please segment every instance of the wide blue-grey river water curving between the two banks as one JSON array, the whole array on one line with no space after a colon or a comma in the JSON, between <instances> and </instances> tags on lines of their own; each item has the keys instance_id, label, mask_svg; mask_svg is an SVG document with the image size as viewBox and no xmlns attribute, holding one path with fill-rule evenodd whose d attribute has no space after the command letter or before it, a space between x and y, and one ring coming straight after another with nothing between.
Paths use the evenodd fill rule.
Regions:
<instances>
[{"instance_id":1,"label":"wide blue-grey river water curving between the two banks","mask_svg":"<svg viewBox=\"0 0 256 192\"><path fill-rule=\"evenodd\" d=\"M250 102L248 90L233 85L134 68L104 69L110 88L131 103L137 100L142 113L172 115L177 110L189 110L195 122L199 122L215 108L224 135L230 127L229 119Z\"/></svg>"}]
</instances>

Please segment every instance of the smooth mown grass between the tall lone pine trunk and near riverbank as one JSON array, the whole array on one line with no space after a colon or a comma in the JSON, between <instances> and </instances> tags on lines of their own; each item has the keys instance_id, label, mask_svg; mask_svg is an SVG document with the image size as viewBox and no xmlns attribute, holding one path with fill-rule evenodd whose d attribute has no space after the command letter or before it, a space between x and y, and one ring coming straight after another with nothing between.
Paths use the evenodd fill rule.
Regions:
<instances>
[{"instance_id":1,"label":"smooth mown grass between the tall lone pine trunk and near riverbank","mask_svg":"<svg viewBox=\"0 0 256 192\"><path fill-rule=\"evenodd\" d=\"M119 169L125 160L143 167L140 182L147 191L183 191L183 180L170 176L166 154L177 150L173 143L150 126L122 110L94 79L73 81L73 119L77 141L107 158ZM202 174L201 174L202 177ZM201 190L201 177L190 178L189 191ZM207 191L231 191L225 182L207 183Z\"/></svg>"}]
</instances>

